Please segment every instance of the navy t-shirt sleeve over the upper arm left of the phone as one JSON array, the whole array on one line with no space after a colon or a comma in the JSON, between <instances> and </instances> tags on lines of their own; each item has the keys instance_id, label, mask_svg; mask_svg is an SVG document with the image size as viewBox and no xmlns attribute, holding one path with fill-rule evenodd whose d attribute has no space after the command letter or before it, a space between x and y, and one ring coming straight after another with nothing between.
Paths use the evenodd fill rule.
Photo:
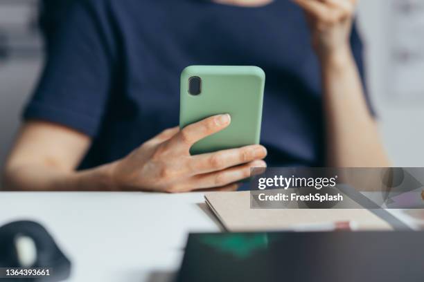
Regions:
<instances>
[{"instance_id":1,"label":"navy t-shirt sleeve over the upper arm left of the phone","mask_svg":"<svg viewBox=\"0 0 424 282\"><path fill-rule=\"evenodd\" d=\"M113 46L100 1L75 1L46 48L39 84L24 119L46 120L89 136L99 130L109 96Z\"/></svg>"}]
</instances>

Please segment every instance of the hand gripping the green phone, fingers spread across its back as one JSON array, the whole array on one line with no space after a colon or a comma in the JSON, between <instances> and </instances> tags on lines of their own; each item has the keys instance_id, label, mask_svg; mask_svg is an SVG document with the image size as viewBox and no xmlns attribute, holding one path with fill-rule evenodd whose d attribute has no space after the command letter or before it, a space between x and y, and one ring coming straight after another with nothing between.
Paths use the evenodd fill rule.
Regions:
<instances>
[{"instance_id":1,"label":"hand gripping the green phone, fingers spread across its back","mask_svg":"<svg viewBox=\"0 0 424 282\"><path fill-rule=\"evenodd\" d=\"M265 147L247 147L191 156L191 146L221 131L229 115L214 115L186 126L167 129L112 165L117 189L186 192L196 189L236 190L251 167L266 167Z\"/></svg>"}]
</instances>

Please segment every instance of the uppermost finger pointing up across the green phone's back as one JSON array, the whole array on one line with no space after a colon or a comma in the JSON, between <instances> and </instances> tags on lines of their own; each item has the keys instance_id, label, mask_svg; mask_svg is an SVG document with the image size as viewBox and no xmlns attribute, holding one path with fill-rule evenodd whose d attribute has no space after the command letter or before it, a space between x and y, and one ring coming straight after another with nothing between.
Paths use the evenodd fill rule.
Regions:
<instances>
[{"instance_id":1,"label":"uppermost finger pointing up across the green phone's back","mask_svg":"<svg viewBox=\"0 0 424 282\"><path fill-rule=\"evenodd\" d=\"M223 115L213 115L200 122L190 124L170 140L170 146L183 146L184 149L190 149L195 142L217 133L229 126L231 117L228 113Z\"/></svg>"}]
</instances>

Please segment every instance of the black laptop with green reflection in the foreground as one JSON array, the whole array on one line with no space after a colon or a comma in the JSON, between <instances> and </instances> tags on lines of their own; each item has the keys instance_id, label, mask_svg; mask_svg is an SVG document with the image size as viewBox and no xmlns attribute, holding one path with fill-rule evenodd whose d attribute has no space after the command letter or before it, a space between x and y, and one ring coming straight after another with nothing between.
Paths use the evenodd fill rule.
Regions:
<instances>
[{"instance_id":1,"label":"black laptop with green reflection in the foreground","mask_svg":"<svg viewBox=\"0 0 424 282\"><path fill-rule=\"evenodd\" d=\"M177 282L423 282L424 232L190 234Z\"/></svg>"}]
</instances>

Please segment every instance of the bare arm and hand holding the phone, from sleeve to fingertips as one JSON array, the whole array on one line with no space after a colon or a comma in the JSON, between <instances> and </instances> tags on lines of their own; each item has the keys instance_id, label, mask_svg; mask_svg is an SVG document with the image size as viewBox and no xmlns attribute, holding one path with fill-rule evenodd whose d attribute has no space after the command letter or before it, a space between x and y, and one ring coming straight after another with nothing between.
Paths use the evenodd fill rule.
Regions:
<instances>
[{"instance_id":1,"label":"bare arm and hand holding the phone, from sleeve to fingertips","mask_svg":"<svg viewBox=\"0 0 424 282\"><path fill-rule=\"evenodd\" d=\"M254 144L190 154L193 144L222 131L230 122L228 114L213 115L182 130L177 126L166 129L125 158L85 171L75 171L83 150L74 156L64 146L46 147L52 134L31 142L37 138L30 138L26 129L21 145L15 147L6 164L3 187L27 191L234 191L237 182L250 175L251 167L266 167L265 147Z\"/></svg>"}]
</instances>

